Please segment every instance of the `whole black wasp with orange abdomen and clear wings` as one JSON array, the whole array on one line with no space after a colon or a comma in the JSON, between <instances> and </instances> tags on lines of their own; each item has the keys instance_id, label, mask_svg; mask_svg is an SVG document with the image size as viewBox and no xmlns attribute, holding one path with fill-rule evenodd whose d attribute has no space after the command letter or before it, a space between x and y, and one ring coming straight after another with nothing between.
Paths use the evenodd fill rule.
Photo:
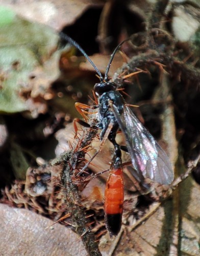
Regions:
<instances>
[{"instance_id":1,"label":"whole black wasp with orange abdomen and clear wings","mask_svg":"<svg viewBox=\"0 0 200 256\"><path fill-rule=\"evenodd\" d=\"M98 97L98 104L88 106L76 103L76 108L83 117L85 117L84 113L86 110L98 109L98 123L96 129L101 130L100 140L105 141L108 138L114 146L114 156L106 184L104 206L106 227L110 235L113 236L116 235L121 228L123 211L121 151L130 154L134 168L134 173L132 174L135 179L141 183L144 178L149 178L161 184L170 184L174 178L173 169L165 152L136 118L124 101L122 95L116 91L116 84L110 82L108 79L109 68L115 53L123 42L129 39L122 41L115 48L107 65L105 76L103 77L93 61L76 41L62 32L60 36L76 47L87 58L99 76L100 82L94 85L94 92ZM90 127L90 125L83 120L78 120L78 122L86 127ZM115 137L118 130L121 130L124 134L126 146L119 145L116 142Z\"/></svg>"}]
</instances>

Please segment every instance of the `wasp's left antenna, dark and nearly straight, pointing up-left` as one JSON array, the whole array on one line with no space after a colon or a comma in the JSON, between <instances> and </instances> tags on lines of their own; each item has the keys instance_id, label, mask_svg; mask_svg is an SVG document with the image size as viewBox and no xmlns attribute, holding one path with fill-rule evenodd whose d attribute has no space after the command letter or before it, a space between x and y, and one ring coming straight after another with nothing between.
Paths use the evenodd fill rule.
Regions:
<instances>
[{"instance_id":1,"label":"wasp's left antenna, dark and nearly straight, pointing up-left","mask_svg":"<svg viewBox=\"0 0 200 256\"><path fill-rule=\"evenodd\" d=\"M90 62L90 64L92 65L92 67L95 69L96 73L99 75L99 79L101 81L104 80L102 73L97 69L96 65L94 64L94 62L90 59L90 57L87 55L87 53L81 48L81 46L78 44L78 42L74 41L70 36L68 36L67 34L60 32L59 36L64 39L65 41L68 41L71 45L73 45L74 47L76 47L85 57L86 59Z\"/></svg>"}]
</instances>

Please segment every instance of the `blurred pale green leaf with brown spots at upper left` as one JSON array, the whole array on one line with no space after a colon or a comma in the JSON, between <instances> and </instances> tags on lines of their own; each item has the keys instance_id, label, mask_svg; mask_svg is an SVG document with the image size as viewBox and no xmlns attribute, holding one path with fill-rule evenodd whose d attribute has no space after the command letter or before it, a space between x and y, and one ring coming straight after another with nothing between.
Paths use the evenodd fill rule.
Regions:
<instances>
[{"instance_id":1,"label":"blurred pale green leaf with brown spots at upper left","mask_svg":"<svg viewBox=\"0 0 200 256\"><path fill-rule=\"evenodd\" d=\"M58 41L51 28L11 14L5 23L0 19L0 113L29 110L23 92L30 88L31 72L51 57Z\"/></svg>"}]
</instances>

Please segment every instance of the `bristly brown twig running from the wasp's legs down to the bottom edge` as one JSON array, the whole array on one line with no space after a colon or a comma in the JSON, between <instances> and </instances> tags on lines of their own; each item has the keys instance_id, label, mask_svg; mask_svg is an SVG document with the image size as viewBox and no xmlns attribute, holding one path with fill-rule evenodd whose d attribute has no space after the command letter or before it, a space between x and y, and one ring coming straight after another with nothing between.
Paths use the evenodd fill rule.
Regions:
<instances>
[{"instance_id":1,"label":"bristly brown twig running from the wasp's legs down to the bottom edge","mask_svg":"<svg viewBox=\"0 0 200 256\"><path fill-rule=\"evenodd\" d=\"M94 234L88 227L85 212L79 197L79 190L74 183L74 177L76 176L76 172L79 172L80 163L82 162L80 159L85 159L86 153L83 148L87 148L95 136L95 130L89 129L88 132L88 129L85 129L82 138L77 141L78 146L74 145L71 151L61 157L61 162L64 161L61 180L64 186L63 193L66 199L67 210L71 216L71 224L74 226L74 231L79 234L88 254L97 256L101 255L101 252L95 242Z\"/></svg>"}]
</instances>

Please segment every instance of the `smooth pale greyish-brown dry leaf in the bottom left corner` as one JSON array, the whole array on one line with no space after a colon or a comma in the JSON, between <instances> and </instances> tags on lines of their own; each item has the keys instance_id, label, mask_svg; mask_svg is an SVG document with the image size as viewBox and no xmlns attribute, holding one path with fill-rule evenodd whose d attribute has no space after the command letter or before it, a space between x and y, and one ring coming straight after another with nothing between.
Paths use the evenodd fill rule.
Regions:
<instances>
[{"instance_id":1,"label":"smooth pale greyish-brown dry leaf in the bottom left corner","mask_svg":"<svg viewBox=\"0 0 200 256\"><path fill-rule=\"evenodd\" d=\"M87 255L78 235L29 210L0 204L1 255Z\"/></svg>"}]
</instances>

